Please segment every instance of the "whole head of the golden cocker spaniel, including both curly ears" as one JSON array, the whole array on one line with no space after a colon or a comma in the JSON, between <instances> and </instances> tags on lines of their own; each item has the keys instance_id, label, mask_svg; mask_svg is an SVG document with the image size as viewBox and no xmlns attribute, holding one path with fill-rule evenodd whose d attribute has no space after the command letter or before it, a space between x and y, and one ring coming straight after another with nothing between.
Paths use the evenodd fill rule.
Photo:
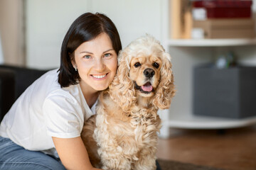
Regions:
<instances>
[{"instance_id":1,"label":"whole head of the golden cocker spaniel, including both curly ears","mask_svg":"<svg viewBox=\"0 0 256 170\"><path fill-rule=\"evenodd\" d=\"M119 53L119 67L110 85L112 99L124 110L137 97L151 98L156 108L169 108L175 94L171 56L150 35L131 42Z\"/></svg>"}]
</instances>

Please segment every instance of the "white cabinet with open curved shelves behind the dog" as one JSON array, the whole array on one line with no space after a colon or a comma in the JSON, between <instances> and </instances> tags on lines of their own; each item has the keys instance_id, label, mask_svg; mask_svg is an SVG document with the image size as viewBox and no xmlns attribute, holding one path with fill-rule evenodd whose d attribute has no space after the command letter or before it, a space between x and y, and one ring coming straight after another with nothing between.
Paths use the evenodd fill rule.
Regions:
<instances>
[{"instance_id":1,"label":"white cabinet with open curved shelves behind the dog","mask_svg":"<svg viewBox=\"0 0 256 170\"><path fill-rule=\"evenodd\" d=\"M169 110L159 111L163 120L160 136L168 137L169 128L223 129L256 123L256 116L238 120L196 116L192 112L193 67L212 62L216 55L228 51L235 52L238 62L255 66L256 39L169 40L169 0L163 0L161 5L161 41L172 57L177 93Z\"/></svg>"}]
</instances>

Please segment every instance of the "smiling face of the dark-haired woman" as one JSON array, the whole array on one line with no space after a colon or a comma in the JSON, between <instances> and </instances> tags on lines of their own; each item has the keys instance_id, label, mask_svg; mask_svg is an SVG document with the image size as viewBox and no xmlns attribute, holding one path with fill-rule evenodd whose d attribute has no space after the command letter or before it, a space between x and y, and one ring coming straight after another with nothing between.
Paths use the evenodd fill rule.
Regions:
<instances>
[{"instance_id":1,"label":"smiling face of the dark-haired woman","mask_svg":"<svg viewBox=\"0 0 256 170\"><path fill-rule=\"evenodd\" d=\"M107 89L117 72L117 53L106 33L83 42L75 50L73 66L78 68L80 86L86 91Z\"/></svg>"}]
</instances>

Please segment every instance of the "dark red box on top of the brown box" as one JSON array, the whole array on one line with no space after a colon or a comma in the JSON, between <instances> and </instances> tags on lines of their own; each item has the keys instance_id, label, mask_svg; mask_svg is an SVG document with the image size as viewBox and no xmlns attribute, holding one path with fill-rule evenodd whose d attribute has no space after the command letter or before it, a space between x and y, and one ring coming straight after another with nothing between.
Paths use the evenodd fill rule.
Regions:
<instances>
[{"instance_id":1,"label":"dark red box on top of the brown box","mask_svg":"<svg viewBox=\"0 0 256 170\"><path fill-rule=\"evenodd\" d=\"M250 18L252 0L193 1L194 8L206 8L207 18Z\"/></svg>"}]
</instances>

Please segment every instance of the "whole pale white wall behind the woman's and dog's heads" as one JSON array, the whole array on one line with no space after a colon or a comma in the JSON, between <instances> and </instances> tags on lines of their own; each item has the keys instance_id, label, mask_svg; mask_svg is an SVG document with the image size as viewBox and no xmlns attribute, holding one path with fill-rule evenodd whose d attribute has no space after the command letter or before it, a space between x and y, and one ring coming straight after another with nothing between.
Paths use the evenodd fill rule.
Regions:
<instances>
[{"instance_id":1,"label":"whole pale white wall behind the woman's and dog's heads","mask_svg":"<svg viewBox=\"0 0 256 170\"><path fill-rule=\"evenodd\" d=\"M123 47L145 33L161 38L159 0L27 0L26 8L28 67L59 67L65 33L85 12L109 16L119 30Z\"/></svg>"}]
</instances>

